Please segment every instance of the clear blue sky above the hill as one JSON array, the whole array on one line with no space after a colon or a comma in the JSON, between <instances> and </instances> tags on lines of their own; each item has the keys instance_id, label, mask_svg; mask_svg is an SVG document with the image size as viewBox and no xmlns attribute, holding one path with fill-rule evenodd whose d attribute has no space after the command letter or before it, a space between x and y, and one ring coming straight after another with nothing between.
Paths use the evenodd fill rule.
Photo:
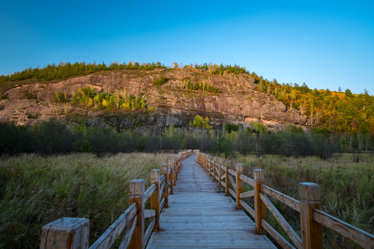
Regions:
<instances>
[{"instance_id":1,"label":"clear blue sky above the hill","mask_svg":"<svg viewBox=\"0 0 374 249\"><path fill-rule=\"evenodd\" d=\"M0 1L0 75L60 62L239 64L374 95L374 1Z\"/></svg>"}]
</instances>

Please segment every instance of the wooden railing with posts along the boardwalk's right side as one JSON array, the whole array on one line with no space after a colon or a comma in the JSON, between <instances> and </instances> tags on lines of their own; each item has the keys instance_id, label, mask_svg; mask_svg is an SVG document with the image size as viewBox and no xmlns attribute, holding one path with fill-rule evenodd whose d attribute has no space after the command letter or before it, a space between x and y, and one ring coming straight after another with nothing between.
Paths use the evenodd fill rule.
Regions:
<instances>
[{"instance_id":1,"label":"wooden railing with posts along the boardwalk's right side","mask_svg":"<svg viewBox=\"0 0 374 249\"><path fill-rule=\"evenodd\" d=\"M213 181L217 181L222 190L224 188L226 195L233 196L237 209L243 208L253 216L256 233L265 234L267 232L283 248L323 248L322 226L341 234L363 248L374 248L373 234L355 228L353 225L321 211L320 189L319 185L315 183L300 183L300 201L298 201L264 185L262 169L254 169L252 179L242 174L242 164L236 164L234 171L231 169L229 160L224 161L222 158L218 159L198 151L196 160L213 177ZM246 184L245 189L248 190L246 192L243 190L244 184ZM271 203L268 196L300 212L301 238ZM254 199L253 208L244 201L249 197ZM267 223L266 209L278 221L292 243Z\"/></svg>"}]
</instances>

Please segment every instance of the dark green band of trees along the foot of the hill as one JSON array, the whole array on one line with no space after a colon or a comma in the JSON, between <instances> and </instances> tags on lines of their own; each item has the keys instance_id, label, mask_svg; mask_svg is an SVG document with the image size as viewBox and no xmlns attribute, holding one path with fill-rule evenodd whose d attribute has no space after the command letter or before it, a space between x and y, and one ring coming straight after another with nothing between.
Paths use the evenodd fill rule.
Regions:
<instances>
[{"instance_id":1,"label":"dark green band of trees along the foot of the hill","mask_svg":"<svg viewBox=\"0 0 374 249\"><path fill-rule=\"evenodd\" d=\"M372 151L370 134L357 133L337 136L326 133L304 133L301 128L287 126L283 132L269 132L267 127L253 122L244 130L235 124L224 133L211 129L207 118L197 117L191 127L176 129L170 126L163 135L141 134L131 131L117 132L114 128L66 126L50 120L34 127L16 127L0 124L0 154L38 153L66 154L93 152L95 154L129 151L160 151L201 149L229 156L241 154L277 154L282 156L319 156L331 158L337 152L357 154Z\"/></svg>"}]
</instances>

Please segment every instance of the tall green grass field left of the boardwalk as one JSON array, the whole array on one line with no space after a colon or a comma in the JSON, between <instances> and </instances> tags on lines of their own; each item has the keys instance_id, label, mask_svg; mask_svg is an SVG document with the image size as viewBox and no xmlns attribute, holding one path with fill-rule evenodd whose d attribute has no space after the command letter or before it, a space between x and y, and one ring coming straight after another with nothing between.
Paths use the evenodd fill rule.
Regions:
<instances>
[{"instance_id":1,"label":"tall green grass field left of the boardwalk","mask_svg":"<svg viewBox=\"0 0 374 249\"><path fill-rule=\"evenodd\" d=\"M43 225L90 219L90 244L128 207L128 185L175 154L130 153L0 158L0 248L39 248Z\"/></svg>"}]
</instances>

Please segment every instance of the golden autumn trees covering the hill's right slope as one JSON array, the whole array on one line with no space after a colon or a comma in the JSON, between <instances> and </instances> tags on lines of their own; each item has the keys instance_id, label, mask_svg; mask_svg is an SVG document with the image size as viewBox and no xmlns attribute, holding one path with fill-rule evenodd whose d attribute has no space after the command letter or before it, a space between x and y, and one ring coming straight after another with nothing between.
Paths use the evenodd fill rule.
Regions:
<instances>
[{"instance_id":1,"label":"golden autumn trees covering the hill's right slope","mask_svg":"<svg viewBox=\"0 0 374 249\"><path fill-rule=\"evenodd\" d=\"M309 89L304 83L278 84L256 77L258 91L275 95L289 107L298 109L312 121L313 127L323 127L337 133L371 133L374 135L374 96L367 91L353 94Z\"/></svg>"}]
</instances>

